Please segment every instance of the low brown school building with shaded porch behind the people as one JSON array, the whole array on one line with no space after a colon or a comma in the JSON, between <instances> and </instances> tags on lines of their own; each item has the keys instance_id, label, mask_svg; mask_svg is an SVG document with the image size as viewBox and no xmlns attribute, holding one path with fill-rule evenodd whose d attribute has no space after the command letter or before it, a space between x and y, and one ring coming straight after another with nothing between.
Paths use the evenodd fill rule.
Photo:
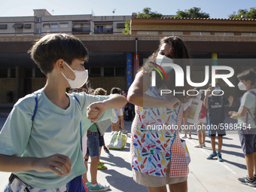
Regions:
<instances>
[{"instance_id":1,"label":"low brown school building with shaded porch behind the people","mask_svg":"<svg viewBox=\"0 0 256 192\"><path fill-rule=\"evenodd\" d=\"M80 38L90 51L90 59L85 67L89 70L89 80L93 88L102 87L109 93L111 87L127 90L139 66L142 66L143 59L157 49L160 38L169 35L178 35L187 44L191 57L199 59L192 67L194 82L202 82L205 66L208 65L206 62L210 62L211 66L212 59L217 59L219 66L231 66L235 70L230 81L236 85L236 75L239 72L249 67L255 69L255 23L255 20L246 19L132 18L131 35L71 34ZM41 35L44 33L0 35L1 105L12 105L27 93L44 87L45 76L27 53L32 42L41 38ZM202 59L203 63L200 62ZM248 60L246 65L240 62L241 59ZM211 79L209 83L210 81ZM230 88L224 82L220 83L227 90L225 94L231 94L235 98L238 96L237 87Z\"/></svg>"}]
</instances>

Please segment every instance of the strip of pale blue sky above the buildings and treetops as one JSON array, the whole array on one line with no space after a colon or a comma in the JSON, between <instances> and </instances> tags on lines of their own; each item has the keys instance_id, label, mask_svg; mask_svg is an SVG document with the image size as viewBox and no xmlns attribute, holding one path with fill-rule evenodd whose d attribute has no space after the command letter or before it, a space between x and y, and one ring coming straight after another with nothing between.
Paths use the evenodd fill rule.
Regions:
<instances>
[{"instance_id":1,"label":"strip of pale blue sky above the buildings and treetops","mask_svg":"<svg viewBox=\"0 0 256 192\"><path fill-rule=\"evenodd\" d=\"M256 7L256 0L0 0L0 17L33 16L33 9L47 9L53 15L131 15L146 7L163 15L197 7L211 18L228 18L233 11Z\"/></svg>"}]
</instances>

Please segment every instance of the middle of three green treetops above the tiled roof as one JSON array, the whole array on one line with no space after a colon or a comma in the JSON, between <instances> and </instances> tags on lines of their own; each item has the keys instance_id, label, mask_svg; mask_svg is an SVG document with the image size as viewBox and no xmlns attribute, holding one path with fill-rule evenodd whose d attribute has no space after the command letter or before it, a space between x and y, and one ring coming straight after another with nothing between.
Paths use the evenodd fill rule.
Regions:
<instances>
[{"instance_id":1,"label":"middle of three green treetops above the tiled roof","mask_svg":"<svg viewBox=\"0 0 256 192\"><path fill-rule=\"evenodd\" d=\"M177 11L175 14L175 18L184 18L184 17L190 17L190 18L209 18L210 14L206 14L204 12L200 12L201 8L190 8L189 10L185 11Z\"/></svg>"}]
</instances>

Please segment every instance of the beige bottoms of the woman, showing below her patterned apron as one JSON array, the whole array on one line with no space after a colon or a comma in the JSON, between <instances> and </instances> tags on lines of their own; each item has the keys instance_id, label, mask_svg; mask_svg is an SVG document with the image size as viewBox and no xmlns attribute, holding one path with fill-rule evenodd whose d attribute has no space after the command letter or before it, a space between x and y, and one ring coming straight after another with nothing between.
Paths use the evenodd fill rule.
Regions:
<instances>
[{"instance_id":1,"label":"beige bottoms of the woman, showing below her patterned apron","mask_svg":"<svg viewBox=\"0 0 256 192\"><path fill-rule=\"evenodd\" d=\"M179 178L170 178L169 177L169 171L170 171L170 165L167 168L166 177L157 177L153 175L147 175L145 173L136 171L133 169L133 180L136 181L138 184L142 184L146 187L162 187L166 184L176 184L181 183L184 181L187 181L187 176L179 177Z\"/></svg>"}]
</instances>

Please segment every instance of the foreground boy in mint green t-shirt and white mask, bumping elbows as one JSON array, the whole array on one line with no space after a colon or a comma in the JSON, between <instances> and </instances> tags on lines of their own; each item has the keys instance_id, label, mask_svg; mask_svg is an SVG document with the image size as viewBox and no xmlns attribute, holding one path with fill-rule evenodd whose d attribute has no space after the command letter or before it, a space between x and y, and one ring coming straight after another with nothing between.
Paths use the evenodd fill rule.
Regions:
<instances>
[{"instance_id":1,"label":"foreground boy in mint green t-shirt and white mask, bumping elbows","mask_svg":"<svg viewBox=\"0 0 256 192\"><path fill-rule=\"evenodd\" d=\"M126 103L123 96L66 93L87 81L87 48L73 35L45 35L30 50L32 59L47 76L47 83L14 105L0 133L0 171L13 172L5 191L60 191L84 174L81 130L100 118L112 117L111 108ZM35 96L38 109L35 119ZM19 189L17 186L19 185Z\"/></svg>"}]
</instances>

